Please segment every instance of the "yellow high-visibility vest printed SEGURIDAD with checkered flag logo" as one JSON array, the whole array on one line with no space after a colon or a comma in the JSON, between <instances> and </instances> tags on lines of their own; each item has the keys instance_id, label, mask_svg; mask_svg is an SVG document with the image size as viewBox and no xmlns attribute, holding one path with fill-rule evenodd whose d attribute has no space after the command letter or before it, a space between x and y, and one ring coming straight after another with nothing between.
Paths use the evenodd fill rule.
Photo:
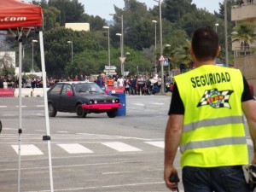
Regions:
<instances>
[{"instance_id":1,"label":"yellow high-visibility vest printed SEGURIDAD with checkered flag logo","mask_svg":"<svg viewBox=\"0 0 256 192\"><path fill-rule=\"evenodd\" d=\"M248 164L238 69L205 65L175 77L185 108L181 166Z\"/></svg>"}]
</instances>

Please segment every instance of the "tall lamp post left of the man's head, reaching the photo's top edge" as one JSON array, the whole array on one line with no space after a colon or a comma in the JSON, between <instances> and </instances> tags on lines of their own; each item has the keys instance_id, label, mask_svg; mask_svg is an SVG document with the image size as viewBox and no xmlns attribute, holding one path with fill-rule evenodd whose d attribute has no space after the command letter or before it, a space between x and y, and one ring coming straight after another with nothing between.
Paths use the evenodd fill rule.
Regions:
<instances>
[{"instance_id":1,"label":"tall lamp post left of the man's head, reaching the photo's top edge","mask_svg":"<svg viewBox=\"0 0 256 192\"><path fill-rule=\"evenodd\" d=\"M162 6L161 0L154 0L159 3L159 18L160 18L160 55L163 55L163 30L162 30ZM161 61L161 93L165 92L165 81L164 81L164 61Z\"/></svg>"}]
</instances>

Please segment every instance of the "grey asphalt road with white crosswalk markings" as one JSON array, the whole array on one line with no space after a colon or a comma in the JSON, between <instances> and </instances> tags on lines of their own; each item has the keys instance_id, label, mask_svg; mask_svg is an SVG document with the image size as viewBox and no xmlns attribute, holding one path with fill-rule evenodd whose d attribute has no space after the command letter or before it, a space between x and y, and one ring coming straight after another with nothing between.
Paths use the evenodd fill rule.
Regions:
<instances>
[{"instance_id":1,"label":"grey asphalt road with white crosswalk markings","mask_svg":"<svg viewBox=\"0 0 256 192\"><path fill-rule=\"evenodd\" d=\"M126 116L57 113L46 135L44 99L22 98L20 191L159 192L163 181L164 135L170 96L126 96ZM18 191L19 99L1 98L0 191ZM252 157L252 141L247 137ZM176 166L181 175L177 154ZM182 183L179 184L183 192Z\"/></svg>"}]
</instances>

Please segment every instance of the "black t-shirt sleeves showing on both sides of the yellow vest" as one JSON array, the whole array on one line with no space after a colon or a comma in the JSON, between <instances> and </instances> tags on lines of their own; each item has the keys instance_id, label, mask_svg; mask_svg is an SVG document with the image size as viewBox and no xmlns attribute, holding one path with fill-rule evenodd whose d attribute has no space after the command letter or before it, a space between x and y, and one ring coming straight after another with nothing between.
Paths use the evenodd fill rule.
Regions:
<instances>
[{"instance_id":1,"label":"black t-shirt sleeves showing on both sides of the yellow vest","mask_svg":"<svg viewBox=\"0 0 256 192\"><path fill-rule=\"evenodd\" d=\"M247 83L247 80L243 77L243 84L244 84L244 90L241 95L241 102L247 102L248 100L252 100L253 96L249 88L249 84ZM185 108L183 105L183 101L179 95L177 84L174 84L173 91L172 91L172 101L171 106L169 109L169 115L170 114L184 114Z\"/></svg>"}]
</instances>

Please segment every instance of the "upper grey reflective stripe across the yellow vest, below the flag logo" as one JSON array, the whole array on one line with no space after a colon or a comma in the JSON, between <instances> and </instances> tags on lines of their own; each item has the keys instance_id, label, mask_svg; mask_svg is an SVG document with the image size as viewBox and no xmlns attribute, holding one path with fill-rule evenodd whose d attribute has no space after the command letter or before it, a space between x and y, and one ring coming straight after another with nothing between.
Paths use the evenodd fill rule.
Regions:
<instances>
[{"instance_id":1,"label":"upper grey reflective stripe across the yellow vest, below the flag logo","mask_svg":"<svg viewBox=\"0 0 256 192\"><path fill-rule=\"evenodd\" d=\"M214 125L225 125L225 124L240 124L244 123L242 116L223 117L218 119L204 119L196 121L187 125L183 125L183 132L193 131L200 127L214 126Z\"/></svg>"}]
</instances>

